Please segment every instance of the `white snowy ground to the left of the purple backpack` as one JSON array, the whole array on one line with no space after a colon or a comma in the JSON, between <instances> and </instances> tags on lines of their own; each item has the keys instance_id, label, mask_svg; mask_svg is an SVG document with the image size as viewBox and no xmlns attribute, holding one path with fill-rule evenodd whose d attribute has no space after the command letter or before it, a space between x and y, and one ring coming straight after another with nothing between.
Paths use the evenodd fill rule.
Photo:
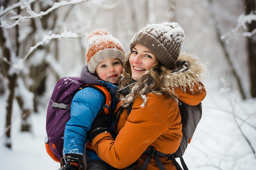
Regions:
<instances>
[{"instance_id":1,"label":"white snowy ground to the left of the purple backpack","mask_svg":"<svg viewBox=\"0 0 256 170\"><path fill-rule=\"evenodd\" d=\"M5 100L0 97L0 108L5 108ZM57 170L60 167L47 154L44 140L46 137L46 107L41 112L31 115L32 132L20 133L20 112L15 103L12 123L11 141L13 148L4 146L5 112L0 112L0 169L1 170ZM1 109L2 110L2 109Z\"/></svg>"}]
</instances>

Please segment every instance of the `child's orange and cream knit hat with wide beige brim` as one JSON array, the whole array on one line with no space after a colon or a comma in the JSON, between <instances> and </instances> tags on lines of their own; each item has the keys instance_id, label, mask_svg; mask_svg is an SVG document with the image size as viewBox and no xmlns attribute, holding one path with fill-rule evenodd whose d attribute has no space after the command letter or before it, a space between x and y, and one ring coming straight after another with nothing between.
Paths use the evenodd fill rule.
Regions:
<instances>
[{"instance_id":1,"label":"child's orange and cream knit hat with wide beige brim","mask_svg":"<svg viewBox=\"0 0 256 170\"><path fill-rule=\"evenodd\" d=\"M125 55L122 43L105 29L93 30L87 36L86 60L89 72L95 74L99 62L109 57L118 58L123 63Z\"/></svg>"}]
</instances>

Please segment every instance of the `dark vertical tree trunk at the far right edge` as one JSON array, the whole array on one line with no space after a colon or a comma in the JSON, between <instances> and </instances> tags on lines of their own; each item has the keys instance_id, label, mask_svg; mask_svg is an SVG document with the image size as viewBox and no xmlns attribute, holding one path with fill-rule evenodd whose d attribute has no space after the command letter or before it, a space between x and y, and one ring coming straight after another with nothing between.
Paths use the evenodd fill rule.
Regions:
<instances>
[{"instance_id":1,"label":"dark vertical tree trunk at the far right edge","mask_svg":"<svg viewBox=\"0 0 256 170\"><path fill-rule=\"evenodd\" d=\"M256 1L255 0L245 0L246 15L253 12L255 14ZM256 21L253 20L248 24L248 32L256 29ZM256 97L256 34L247 38L248 45L248 57L249 57L249 71L251 79L251 97Z\"/></svg>"}]
</instances>

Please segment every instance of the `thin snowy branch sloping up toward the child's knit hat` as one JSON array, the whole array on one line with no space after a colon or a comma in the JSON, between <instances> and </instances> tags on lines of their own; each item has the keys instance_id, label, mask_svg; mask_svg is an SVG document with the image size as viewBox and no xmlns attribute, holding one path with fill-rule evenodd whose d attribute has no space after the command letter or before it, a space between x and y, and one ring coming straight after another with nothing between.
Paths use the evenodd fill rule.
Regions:
<instances>
[{"instance_id":1,"label":"thin snowy branch sloping up toward the child's knit hat","mask_svg":"<svg viewBox=\"0 0 256 170\"><path fill-rule=\"evenodd\" d=\"M25 57L20 60L20 64L23 63L24 60L26 60L26 58L33 52L36 50L37 47L39 47L40 45L43 45L45 43L48 43L50 40L53 39L62 39L62 38L66 38L66 39L73 39L73 38L81 38L82 36L86 35L86 33L84 33L83 35L78 35L75 32L71 32L71 31L67 31L64 30L64 32L62 32L61 34L51 34L51 35L45 35L43 40L41 40L40 42L38 42L36 45L30 47L29 52L25 55Z\"/></svg>"}]
</instances>

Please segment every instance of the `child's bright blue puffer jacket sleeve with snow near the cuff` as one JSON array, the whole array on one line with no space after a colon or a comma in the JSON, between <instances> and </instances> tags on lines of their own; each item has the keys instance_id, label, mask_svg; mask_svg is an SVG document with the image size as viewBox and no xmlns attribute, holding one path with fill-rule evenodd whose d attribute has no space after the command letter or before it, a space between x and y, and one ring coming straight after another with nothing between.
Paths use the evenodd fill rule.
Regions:
<instances>
[{"instance_id":1,"label":"child's bright blue puffer jacket sleeve with snow near the cuff","mask_svg":"<svg viewBox=\"0 0 256 170\"><path fill-rule=\"evenodd\" d=\"M104 96L91 87L84 88L76 93L71 104L71 119L64 130L63 155L83 155L87 132L102 107Z\"/></svg>"}]
</instances>

